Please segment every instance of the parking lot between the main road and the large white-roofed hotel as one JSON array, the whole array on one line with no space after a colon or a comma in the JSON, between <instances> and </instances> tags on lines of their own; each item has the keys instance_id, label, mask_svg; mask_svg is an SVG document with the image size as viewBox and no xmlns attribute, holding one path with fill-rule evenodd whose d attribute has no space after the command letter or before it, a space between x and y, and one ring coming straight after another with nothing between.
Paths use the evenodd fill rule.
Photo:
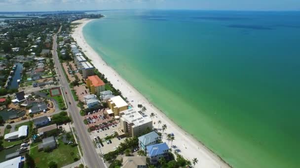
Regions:
<instances>
[{"instance_id":1,"label":"parking lot between the main road and the large white-roofed hotel","mask_svg":"<svg viewBox=\"0 0 300 168\"><path fill-rule=\"evenodd\" d=\"M106 136L111 136L114 134L114 132L118 132L118 130L120 129L120 124L117 124L117 126L115 127L112 127L112 126L109 126L108 127L109 129L104 129L104 131L102 130L99 130L99 132L97 131L92 131L91 134L90 134L90 138L92 141L95 142L95 138L97 139L97 137L99 137L101 140L102 140L102 143L103 143L103 146L101 145L96 145L96 151L97 153L100 153L103 152L103 154L106 154L108 152L111 152L113 151L114 149L116 149L117 146L120 145L121 142L123 142L125 140L125 138L113 138L111 139L112 143L108 143L107 141L108 140L105 140L105 137ZM96 141L96 144L99 144L99 141ZM101 147L98 147L98 146L101 146Z\"/></svg>"}]
</instances>

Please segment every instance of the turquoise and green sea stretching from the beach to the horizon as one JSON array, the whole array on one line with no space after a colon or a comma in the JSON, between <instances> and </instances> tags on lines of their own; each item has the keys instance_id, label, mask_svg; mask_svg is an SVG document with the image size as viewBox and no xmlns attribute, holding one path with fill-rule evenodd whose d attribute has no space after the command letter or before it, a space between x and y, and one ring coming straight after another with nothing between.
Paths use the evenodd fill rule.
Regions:
<instances>
[{"instance_id":1,"label":"turquoise and green sea stretching from the beach to the horizon","mask_svg":"<svg viewBox=\"0 0 300 168\"><path fill-rule=\"evenodd\" d=\"M183 129L234 168L299 168L300 12L102 13L88 44Z\"/></svg>"}]
</instances>

